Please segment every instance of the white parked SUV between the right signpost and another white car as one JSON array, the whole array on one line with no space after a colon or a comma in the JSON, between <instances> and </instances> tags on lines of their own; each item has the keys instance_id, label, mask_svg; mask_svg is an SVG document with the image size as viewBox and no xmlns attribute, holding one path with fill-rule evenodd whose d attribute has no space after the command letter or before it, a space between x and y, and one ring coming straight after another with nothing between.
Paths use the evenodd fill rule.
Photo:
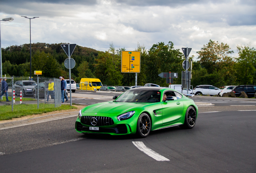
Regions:
<instances>
[{"instance_id":1,"label":"white parked SUV between the right signpost and another white car","mask_svg":"<svg viewBox=\"0 0 256 173\"><path fill-rule=\"evenodd\" d=\"M195 95L218 95L221 89L213 85L198 85L193 89Z\"/></svg>"}]
</instances>

